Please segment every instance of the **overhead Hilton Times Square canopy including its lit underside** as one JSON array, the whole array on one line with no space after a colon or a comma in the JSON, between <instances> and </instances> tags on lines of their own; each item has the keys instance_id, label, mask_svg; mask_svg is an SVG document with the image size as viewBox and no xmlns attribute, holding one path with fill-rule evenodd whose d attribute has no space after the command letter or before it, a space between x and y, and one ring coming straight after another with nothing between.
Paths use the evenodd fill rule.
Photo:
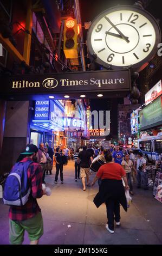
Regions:
<instances>
[{"instance_id":1,"label":"overhead Hilton Times Square canopy including its lit underside","mask_svg":"<svg viewBox=\"0 0 162 256\"><path fill-rule=\"evenodd\" d=\"M79 99L81 94L95 98L126 96L131 90L129 70L30 74L1 78L0 97L6 100Z\"/></svg>"}]
</instances>

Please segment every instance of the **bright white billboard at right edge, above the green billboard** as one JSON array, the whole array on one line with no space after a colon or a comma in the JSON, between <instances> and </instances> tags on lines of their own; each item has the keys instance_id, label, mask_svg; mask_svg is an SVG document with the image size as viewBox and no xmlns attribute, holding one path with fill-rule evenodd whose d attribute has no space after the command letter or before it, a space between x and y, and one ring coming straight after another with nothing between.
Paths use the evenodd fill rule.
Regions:
<instances>
[{"instance_id":1,"label":"bright white billboard at right edge, above the green billboard","mask_svg":"<svg viewBox=\"0 0 162 256\"><path fill-rule=\"evenodd\" d=\"M148 105L153 100L157 99L162 93L161 80L155 84L155 86L145 94L145 105Z\"/></svg>"}]
</instances>

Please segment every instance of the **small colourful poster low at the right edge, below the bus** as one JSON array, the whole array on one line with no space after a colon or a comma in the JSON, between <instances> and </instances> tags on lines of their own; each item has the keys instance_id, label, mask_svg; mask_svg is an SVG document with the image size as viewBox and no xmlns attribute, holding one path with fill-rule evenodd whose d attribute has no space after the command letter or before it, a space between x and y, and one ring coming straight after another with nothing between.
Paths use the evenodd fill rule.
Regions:
<instances>
[{"instance_id":1,"label":"small colourful poster low at the right edge, below the bus","mask_svg":"<svg viewBox=\"0 0 162 256\"><path fill-rule=\"evenodd\" d=\"M155 175L153 195L155 199L162 203L162 173L160 172Z\"/></svg>"}]
</instances>

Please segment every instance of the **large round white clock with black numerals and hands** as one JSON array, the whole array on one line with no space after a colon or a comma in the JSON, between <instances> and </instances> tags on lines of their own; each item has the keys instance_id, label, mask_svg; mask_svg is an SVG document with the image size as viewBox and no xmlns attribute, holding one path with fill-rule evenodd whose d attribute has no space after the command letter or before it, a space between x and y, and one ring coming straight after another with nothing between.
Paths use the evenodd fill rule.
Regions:
<instances>
[{"instance_id":1,"label":"large round white clock with black numerals and hands","mask_svg":"<svg viewBox=\"0 0 162 256\"><path fill-rule=\"evenodd\" d=\"M121 5L103 11L87 34L89 54L96 63L113 69L139 69L157 52L161 33L154 17L139 7Z\"/></svg>"}]
</instances>

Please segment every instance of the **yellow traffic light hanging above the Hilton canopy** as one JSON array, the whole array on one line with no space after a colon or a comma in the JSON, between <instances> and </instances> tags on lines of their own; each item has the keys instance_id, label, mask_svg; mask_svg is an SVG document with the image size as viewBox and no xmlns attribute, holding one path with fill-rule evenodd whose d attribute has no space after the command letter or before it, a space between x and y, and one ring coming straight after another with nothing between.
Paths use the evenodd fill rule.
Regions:
<instances>
[{"instance_id":1,"label":"yellow traffic light hanging above the Hilton canopy","mask_svg":"<svg viewBox=\"0 0 162 256\"><path fill-rule=\"evenodd\" d=\"M69 17L64 24L63 51L66 58L77 58L77 22Z\"/></svg>"}]
</instances>

